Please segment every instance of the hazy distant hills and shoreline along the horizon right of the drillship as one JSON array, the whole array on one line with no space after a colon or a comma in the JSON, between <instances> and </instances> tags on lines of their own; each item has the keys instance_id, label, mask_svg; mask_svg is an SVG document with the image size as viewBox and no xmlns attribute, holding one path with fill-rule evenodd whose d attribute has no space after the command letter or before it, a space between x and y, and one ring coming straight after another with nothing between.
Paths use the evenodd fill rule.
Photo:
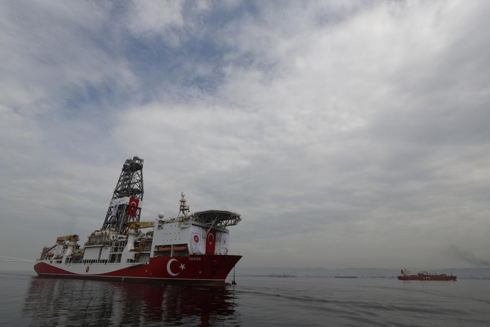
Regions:
<instances>
[{"instance_id":1,"label":"hazy distant hills and shoreline along the horizon right of the drillship","mask_svg":"<svg viewBox=\"0 0 490 327\"><path fill-rule=\"evenodd\" d=\"M417 273L418 271L410 271ZM428 272L445 273L457 275L458 279L490 279L490 268L448 268L432 269ZM334 277L335 275L355 275L360 278L396 278L400 274L400 269L380 269L380 268L243 268L236 267L236 274L268 276L271 274L295 274L303 277Z\"/></svg>"}]
</instances>

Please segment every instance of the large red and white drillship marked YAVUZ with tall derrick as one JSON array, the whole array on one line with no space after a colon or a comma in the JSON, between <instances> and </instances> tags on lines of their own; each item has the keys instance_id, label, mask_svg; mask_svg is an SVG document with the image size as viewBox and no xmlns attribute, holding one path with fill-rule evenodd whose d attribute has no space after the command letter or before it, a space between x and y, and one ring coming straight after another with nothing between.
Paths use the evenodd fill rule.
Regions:
<instances>
[{"instance_id":1,"label":"large red and white drillship marked YAVUZ with tall derrick","mask_svg":"<svg viewBox=\"0 0 490 327\"><path fill-rule=\"evenodd\" d=\"M83 246L78 235L58 237L53 246L45 246L34 265L39 276L226 284L241 258L228 254L227 227L240 222L240 215L223 210L190 213L181 193L177 217L160 213L154 221L142 222L142 169L143 159L125 161L102 228L92 232Z\"/></svg>"}]
</instances>

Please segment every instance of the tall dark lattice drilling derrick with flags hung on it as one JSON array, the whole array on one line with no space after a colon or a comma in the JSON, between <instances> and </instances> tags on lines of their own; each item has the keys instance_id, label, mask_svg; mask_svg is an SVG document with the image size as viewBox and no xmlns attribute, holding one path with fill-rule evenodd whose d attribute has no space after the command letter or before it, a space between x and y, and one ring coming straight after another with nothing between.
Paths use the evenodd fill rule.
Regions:
<instances>
[{"instance_id":1,"label":"tall dark lattice drilling derrick with flags hung on it","mask_svg":"<svg viewBox=\"0 0 490 327\"><path fill-rule=\"evenodd\" d=\"M125 233L130 222L139 222L143 200L143 159L126 159L109 203L103 229Z\"/></svg>"}]
</instances>

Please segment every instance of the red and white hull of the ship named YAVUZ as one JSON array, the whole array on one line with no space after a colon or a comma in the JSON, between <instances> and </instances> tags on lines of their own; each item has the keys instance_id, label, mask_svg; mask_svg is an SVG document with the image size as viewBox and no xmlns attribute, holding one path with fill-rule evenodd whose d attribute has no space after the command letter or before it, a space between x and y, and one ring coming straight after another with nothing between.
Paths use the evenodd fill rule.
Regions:
<instances>
[{"instance_id":1,"label":"red and white hull of the ship named YAVUZ","mask_svg":"<svg viewBox=\"0 0 490 327\"><path fill-rule=\"evenodd\" d=\"M161 256L148 263L56 264L40 261L34 270L41 277L98 279L135 283L225 284L241 255L196 254Z\"/></svg>"}]
</instances>

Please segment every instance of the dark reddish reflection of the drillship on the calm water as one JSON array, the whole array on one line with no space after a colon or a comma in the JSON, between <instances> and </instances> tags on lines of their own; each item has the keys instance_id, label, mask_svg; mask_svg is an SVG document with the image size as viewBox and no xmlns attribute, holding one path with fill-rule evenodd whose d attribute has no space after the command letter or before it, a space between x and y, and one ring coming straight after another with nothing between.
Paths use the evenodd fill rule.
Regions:
<instances>
[{"instance_id":1,"label":"dark reddish reflection of the drillship on the calm water","mask_svg":"<svg viewBox=\"0 0 490 327\"><path fill-rule=\"evenodd\" d=\"M33 277L23 315L32 325L241 325L235 307L233 287Z\"/></svg>"}]
</instances>

